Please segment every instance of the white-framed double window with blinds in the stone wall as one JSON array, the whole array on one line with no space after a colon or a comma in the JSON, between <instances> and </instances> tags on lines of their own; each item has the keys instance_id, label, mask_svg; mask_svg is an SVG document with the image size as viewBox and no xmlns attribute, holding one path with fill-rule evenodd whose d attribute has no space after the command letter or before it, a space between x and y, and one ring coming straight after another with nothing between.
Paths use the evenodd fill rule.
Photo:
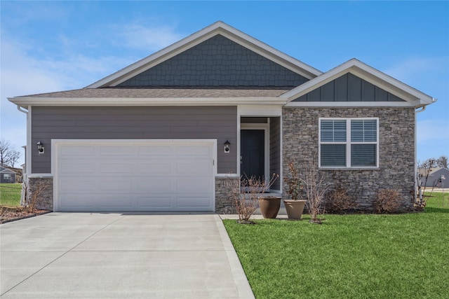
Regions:
<instances>
[{"instance_id":1,"label":"white-framed double window with blinds in the stone wall","mask_svg":"<svg viewBox=\"0 0 449 299\"><path fill-rule=\"evenodd\" d=\"M320 118L320 167L378 167L378 132L378 118Z\"/></svg>"}]
</instances>

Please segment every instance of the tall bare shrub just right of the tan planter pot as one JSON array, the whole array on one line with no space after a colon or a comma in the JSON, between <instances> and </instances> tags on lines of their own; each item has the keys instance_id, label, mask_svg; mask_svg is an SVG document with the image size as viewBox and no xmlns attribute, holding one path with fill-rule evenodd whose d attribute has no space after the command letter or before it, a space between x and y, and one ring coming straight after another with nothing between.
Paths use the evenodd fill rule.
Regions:
<instances>
[{"instance_id":1,"label":"tall bare shrub just right of the tan planter pot","mask_svg":"<svg viewBox=\"0 0 449 299\"><path fill-rule=\"evenodd\" d=\"M332 183L326 182L323 175L320 174L316 155L309 160L304 167L303 177L300 179L304 184L304 193L306 195L306 207L310 214L311 223L321 223L320 215L323 215L326 209L324 197Z\"/></svg>"}]
</instances>

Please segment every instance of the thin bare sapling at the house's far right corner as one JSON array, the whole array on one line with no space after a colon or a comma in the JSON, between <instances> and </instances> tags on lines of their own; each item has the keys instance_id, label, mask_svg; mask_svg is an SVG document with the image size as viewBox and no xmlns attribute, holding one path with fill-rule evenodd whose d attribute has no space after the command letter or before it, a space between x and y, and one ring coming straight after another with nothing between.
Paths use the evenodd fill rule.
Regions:
<instances>
[{"instance_id":1,"label":"thin bare sapling at the house's far right corner","mask_svg":"<svg viewBox=\"0 0 449 299\"><path fill-rule=\"evenodd\" d=\"M427 181L432 172L432 168L436 167L435 159L427 159L424 162L418 162L417 172L416 172L416 186L417 190L413 193L414 206L417 209L424 209L427 204L427 196L431 196L434 191L434 184L432 184L430 191L427 191ZM424 195L425 192L430 192L429 195Z\"/></svg>"}]
</instances>

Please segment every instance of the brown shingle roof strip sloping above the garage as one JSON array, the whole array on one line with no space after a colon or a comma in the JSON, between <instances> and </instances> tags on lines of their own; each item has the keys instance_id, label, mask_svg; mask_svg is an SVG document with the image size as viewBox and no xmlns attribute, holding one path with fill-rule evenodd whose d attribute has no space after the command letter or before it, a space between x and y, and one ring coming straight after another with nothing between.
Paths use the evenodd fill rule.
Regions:
<instances>
[{"instance_id":1,"label":"brown shingle roof strip sloping above the garage","mask_svg":"<svg viewBox=\"0 0 449 299\"><path fill-rule=\"evenodd\" d=\"M167 87L167 88L81 88L22 97L52 98L188 98L188 97L279 97L294 87Z\"/></svg>"}]
</instances>

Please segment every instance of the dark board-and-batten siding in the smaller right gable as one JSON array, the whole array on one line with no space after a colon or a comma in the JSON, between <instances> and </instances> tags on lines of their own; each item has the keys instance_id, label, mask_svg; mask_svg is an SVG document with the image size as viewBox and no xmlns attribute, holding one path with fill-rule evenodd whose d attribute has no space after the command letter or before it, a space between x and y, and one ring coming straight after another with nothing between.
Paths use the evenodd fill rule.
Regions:
<instances>
[{"instance_id":1,"label":"dark board-and-batten siding in the smaller right gable","mask_svg":"<svg viewBox=\"0 0 449 299\"><path fill-rule=\"evenodd\" d=\"M293 102L404 102L353 74L344 74Z\"/></svg>"}]
</instances>

